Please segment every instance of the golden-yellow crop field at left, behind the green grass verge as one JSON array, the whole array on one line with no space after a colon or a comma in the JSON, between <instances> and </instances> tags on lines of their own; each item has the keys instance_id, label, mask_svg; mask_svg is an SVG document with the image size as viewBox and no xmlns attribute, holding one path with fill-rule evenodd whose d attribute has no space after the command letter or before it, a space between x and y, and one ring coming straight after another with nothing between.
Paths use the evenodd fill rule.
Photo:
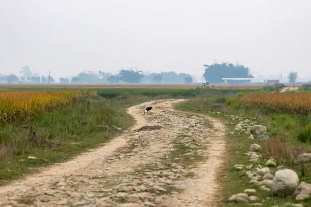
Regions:
<instances>
[{"instance_id":1,"label":"golden-yellow crop field at left, behind the green grass verge","mask_svg":"<svg viewBox=\"0 0 311 207\"><path fill-rule=\"evenodd\" d=\"M75 91L6 91L0 90L0 122L25 123L37 114L70 106L90 94L91 90Z\"/></svg>"}]
</instances>

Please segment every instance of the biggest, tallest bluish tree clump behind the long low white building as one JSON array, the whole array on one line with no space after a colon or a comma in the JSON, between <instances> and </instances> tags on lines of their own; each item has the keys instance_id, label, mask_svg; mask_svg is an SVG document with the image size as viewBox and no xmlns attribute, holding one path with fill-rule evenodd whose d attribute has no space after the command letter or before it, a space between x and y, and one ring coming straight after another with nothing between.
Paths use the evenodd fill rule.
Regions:
<instances>
[{"instance_id":1,"label":"biggest, tallest bluish tree clump behind the long low white building","mask_svg":"<svg viewBox=\"0 0 311 207\"><path fill-rule=\"evenodd\" d=\"M203 65L205 73L203 77L209 83L223 83L222 78L254 78L250 73L250 68L243 65L233 65L231 63ZM230 84L233 83L247 83L250 80L228 80Z\"/></svg>"}]
</instances>

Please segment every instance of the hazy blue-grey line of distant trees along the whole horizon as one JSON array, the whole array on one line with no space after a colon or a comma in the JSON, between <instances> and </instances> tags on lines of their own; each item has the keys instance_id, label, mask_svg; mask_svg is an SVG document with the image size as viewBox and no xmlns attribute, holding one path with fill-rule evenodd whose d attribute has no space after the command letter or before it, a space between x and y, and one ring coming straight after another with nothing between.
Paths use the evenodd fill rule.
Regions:
<instances>
[{"instance_id":1,"label":"hazy blue-grey line of distant trees along the whole horizon","mask_svg":"<svg viewBox=\"0 0 311 207\"><path fill-rule=\"evenodd\" d=\"M231 63L211 64L203 65L205 67L205 73L203 74L206 82L209 83L223 83L222 78L254 78L250 72L250 68L243 65L234 65ZM289 83L295 83L297 80L297 72L290 72L288 75ZM52 76L43 76L37 73L33 73L29 66L21 68L20 76L15 74L2 75L0 74L0 82L18 83L18 82L30 82L30 83L53 83L55 79ZM63 84L101 84L101 83L150 83L150 84L191 84L193 77L190 74L176 72L163 72L163 73L150 73L144 74L143 71L138 70L121 70L117 74L105 73L99 71L94 72L82 72L71 79L66 77L60 77L59 82ZM227 80L229 84L248 83L250 80Z\"/></svg>"}]
</instances>

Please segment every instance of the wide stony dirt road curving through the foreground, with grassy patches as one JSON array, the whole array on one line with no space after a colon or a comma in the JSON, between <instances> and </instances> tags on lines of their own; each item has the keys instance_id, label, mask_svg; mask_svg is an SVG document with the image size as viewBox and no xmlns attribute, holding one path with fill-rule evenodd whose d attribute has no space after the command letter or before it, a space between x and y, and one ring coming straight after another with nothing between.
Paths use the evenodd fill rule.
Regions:
<instances>
[{"instance_id":1,"label":"wide stony dirt road curving through the foreground, with grassy patches","mask_svg":"<svg viewBox=\"0 0 311 207\"><path fill-rule=\"evenodd\" d=\"M215 206L224 126L174 110L179 101L129 108L133 128L101 148L0 187L0 206ZM153 109L143 115L146 106Z\"/></svg>"}]
</instances>

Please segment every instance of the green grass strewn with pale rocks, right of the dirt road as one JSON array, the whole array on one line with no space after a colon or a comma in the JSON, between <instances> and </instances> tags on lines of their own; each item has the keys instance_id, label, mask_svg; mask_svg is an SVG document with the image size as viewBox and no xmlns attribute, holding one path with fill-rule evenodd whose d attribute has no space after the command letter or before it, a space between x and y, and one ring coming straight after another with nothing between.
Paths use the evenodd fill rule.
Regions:
<instances>
[{"instance_id":1,"label":"green grass strewn with pale rocks, right of the dirt road","mask_svg":"<svg viewBox=\"0 0 311 207\"><path fill-rule=\"evenodd\" d=\"M224 99L224 101L220 101L220 99ZM303 203L304 206L308 206L308 200L296 201L295 196L280 198L274 196L271 190L265 191L260 189L260 185L250 183L250 178L245 174L245 171L248 171L248 169L239 171L234 168L236 164L243 164L248 167L251 167L252 164L252 169L255 167L263 168L266 165L266 161L270 157L273 157L276 160L277 167L283 166L293 169L297 172L300 182L311 183L311 165L309 163L304 164L303 167L301 165L293 165L293 159L297 153L299 154L310 149L309 143L301 143L297 140L297 133L299 133L297 124L301 122L303 117L294 117L287 114L271 114L260 109L252 110L248 107L228 106L226 105L226 99L226 97L196 99L179 103L176 106L178 110L208 114L209 116L223 120L227 125L226 154L228 156L225 157L225 163L221 166L220 174L217 178L222 183L222 203L220 206L249 206L250 203L227 202L230 196L243 193L245 189L256 189L257 192L255 195L259 200L254 202L262 203L262 206L283 206L283 204L288 202ZM232 117L236 115L239 118L232 120ZM235 125L239 121L243 121L246 118L255 121L256 124L266 126L270 139L268 141L257 141L249 139L250 134L245 134L243 131L235 132L234 134L230 133L234 131ZM306 117L304 118L307 119ZM249 157L245 155L253 143L262 146L262 151L259 153L262 155L262 158L259 159L258 164L251 163L248 160ZM272 171L276 171L277 167L269 168Z\"/></svg>"}]
</instances>

